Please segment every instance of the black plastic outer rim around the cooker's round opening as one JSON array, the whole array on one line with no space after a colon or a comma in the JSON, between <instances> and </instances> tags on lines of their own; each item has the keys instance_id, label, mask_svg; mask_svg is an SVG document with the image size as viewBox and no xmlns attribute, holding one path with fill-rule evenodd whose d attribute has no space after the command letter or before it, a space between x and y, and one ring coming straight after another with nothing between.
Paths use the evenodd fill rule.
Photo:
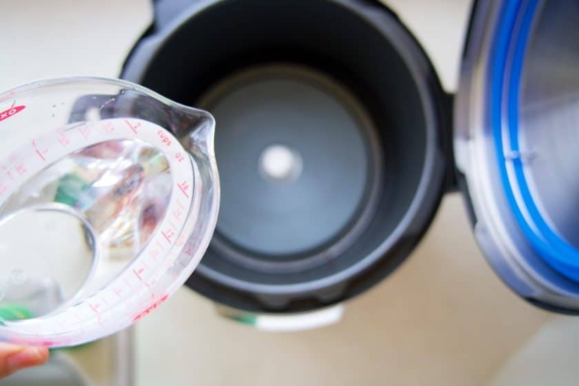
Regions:
<instances>
[{"instance_id":1,"label":"black plastic outer rim around the cooker's round opening","mask_svg":"<svg viewBox=\"0 0 579 386\"><path fill-rule=\"evenodd\" d=\"M333 1L343 3L348 8L356 10L358 14L367 17L369 20L374 19L376 14L389 14L390 17L387 18L387 20L389 20L388 23L380 26L380 28L388 30L389 36L396 36L398 32L392 34L392 24L396 23L397 25L394 30L399 30L400 33L404 35L400 36L400 39L405 42L411 42L407 47L406 53L414 57L416 63L423 63L423 65L421 65L423 71L420 74L420 82L427 88L429 99L434 105L435 122L433 124L439 130L436 141L438 153L440 154L438 161L436 161L438 165L436 165L435 170L438 170L438 172L435 172L435 180L438 179L439 181L434 182L436 188L431 190L431 194L429 194L429 197L425 200L425 205L423 205L423 208L416 215L412 225L409 227L411 231L401 237L395 245L385 252L384 256L379 258L374 264L355 276L345 278L345 280L340 283L335 283L334 285L314 292L304 291L272 295L240 291L222 285L221 283L216 283L216 281L199 272L195 272L187 281L187 285L193 290L230 307L252 312L301 312L339 303L364 292L369 289L369 287L383 280L385 276L396 270L400 263L405 261L405 258L411 254L414 247L416 247L425 232L427 232L443 194L445 194L445 192L458 190L460 178L457 177L454 168L454 156L452 152L451 126L453 97L443 92L440 81L427 55L420 48L416 39L412 37L412 34L403 27L396 15L378 1ZM193 18L196 12L211 3L215 3L215 1L154 1L154 23L134 46L127 61L125 61L121 77L140 83L143 74L147 71L148 60L154 57L156 51L165 43L166 39L171 38L172 31L178 30L180 26ZM336 28L336 26L334 26L334 28ZM349 26L339 26L339 28L345 28L345 30L347 30ZM376 48L376 50L379 50L379 48ZM148 86L148 84L145 83L145 86ZM159 91L162 92L162 90ZM203 261L201 261L201 265L203 265Z\"/></svg>"}]
</instances>

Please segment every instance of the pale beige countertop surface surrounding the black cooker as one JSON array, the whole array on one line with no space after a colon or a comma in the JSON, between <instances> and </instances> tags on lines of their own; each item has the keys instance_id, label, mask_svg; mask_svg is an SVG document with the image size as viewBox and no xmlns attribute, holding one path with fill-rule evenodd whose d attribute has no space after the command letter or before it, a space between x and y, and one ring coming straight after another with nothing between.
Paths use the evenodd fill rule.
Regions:
<instances>
[{"instance_id":1,"label":"pale beige countertop surface surrounding the black cooker","mask_svg":"<svg viewBox=\"0 0 579 386\"><path fill-rule=\"evenodd\" d=\"M454 90L469 1L389 3ZM0 89L39 77L115 76L151 17L147 0L0 4ZM136 379L143 386L484 385L550 318L491 272L460 196L451 194L411 258L347 303L341 323L258 332L220 318L183 288L137 325ZM532 363L518 358L523 369ZM511 373L522 374L514 361Z\"/></svg>"}]
</instances>

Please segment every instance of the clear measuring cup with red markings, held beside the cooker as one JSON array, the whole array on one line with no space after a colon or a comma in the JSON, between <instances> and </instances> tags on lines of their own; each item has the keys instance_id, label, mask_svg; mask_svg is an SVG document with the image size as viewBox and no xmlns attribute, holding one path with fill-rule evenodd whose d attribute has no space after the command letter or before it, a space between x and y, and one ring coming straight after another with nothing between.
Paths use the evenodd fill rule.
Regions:
<instances>
[{"instance_id":1,"label":"clear measuring cup with red markings, held beside the cooker","mask_svg":"<svg viewBox=\"0 0 579 386\"><path fill-rule=\"evenodd\" d=\"M0 341L112 334L170 296L219 210L214 119L127 81L0 94Z\"/></svg>"}]
</instances>

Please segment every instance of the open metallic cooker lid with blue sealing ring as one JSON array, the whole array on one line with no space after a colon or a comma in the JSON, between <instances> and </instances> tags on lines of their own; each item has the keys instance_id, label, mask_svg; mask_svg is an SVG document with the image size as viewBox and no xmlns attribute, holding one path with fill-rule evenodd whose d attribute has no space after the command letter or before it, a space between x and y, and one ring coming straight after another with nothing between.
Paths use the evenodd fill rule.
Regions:
<instances>
[{"instance_id":1,"label":"open metallic cooker lid with blue sealing ring","mask_svg":"<svg viewBox=\"0 0 579 386\"><path fill-rule=\"evenodd\" d=\"M478 2L454 137L491 265L521 296L569 312L579 311L578 22L577 3Z\"/></svg>"}]
</instances>

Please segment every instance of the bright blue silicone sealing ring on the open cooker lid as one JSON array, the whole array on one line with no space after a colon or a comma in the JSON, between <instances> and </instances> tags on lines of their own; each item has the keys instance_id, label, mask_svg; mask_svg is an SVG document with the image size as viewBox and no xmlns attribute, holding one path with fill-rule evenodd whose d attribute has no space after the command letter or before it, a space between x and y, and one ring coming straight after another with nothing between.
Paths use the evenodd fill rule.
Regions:
<instances>
[{"instance_id":1,"label":"bright blue silicone sealing ring on the open cooker lid","mask_svg":"<svg viewBox=\"0 0 579 386\"><path fill-rule=\"evenodd\" d=\"M494 52L489 61L491 84L488 103L491 128L500 180L520 230L545 263L567 278L579 281L579 250L557 234L540 214L531 190L529 190L527 179L525 179L525 164L522 159L505 156L505 154L520 154L521 150L518 122L520 80L529 32L537 9L538 0L505 1L500 27L494 41ZM520 19L518 19L519 15ZM516 30L517 27L518 30ZM515 37L513 36L514 33L516 33ZM513 51L509 68L507 60L511 47ZM508 79L506 93L504 92L505 79ZM509 139L507 152L505 152L502 139L502 114L505 112L505 108L507 109L506 134ZM512 165L514 174L510 177L507 172L509 163ZM519 200L514 194L514 187L520 194ZM526 217L522 211L523 205L527 214Z\"/></svg>"}]
</instances>

